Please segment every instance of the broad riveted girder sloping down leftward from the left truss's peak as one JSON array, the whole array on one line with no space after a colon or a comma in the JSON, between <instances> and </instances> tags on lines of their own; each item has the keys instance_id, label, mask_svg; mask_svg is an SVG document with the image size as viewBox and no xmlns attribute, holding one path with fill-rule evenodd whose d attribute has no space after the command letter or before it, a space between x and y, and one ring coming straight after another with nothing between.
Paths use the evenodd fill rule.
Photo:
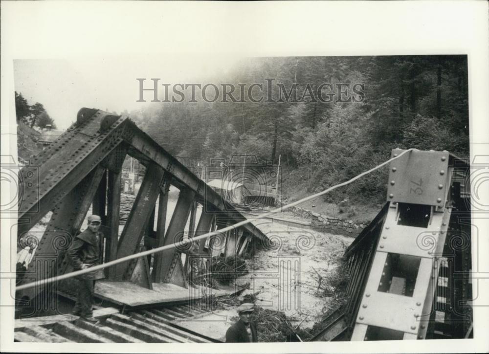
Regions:
<instances>
[{"instance_id":1,"label":"broad riveted girder sloping down leftward from the left truss's peak","mask_svg":"<svg viewBox=\"0 0 489 354\"><path fill-rule=\"evenodd\" d=\"M21 169L19 200L19 237L52 210L85 176L111 153L132 131L128 120L122 118L112 129L101 131L101 120L108 113L98 111L84 123L70 128L51 146ZM26 177L37 174L37 179ZM25 176L25 177L24 177ZM22 181L30 180L23 184Z\"/></svg>"}]
</instances>

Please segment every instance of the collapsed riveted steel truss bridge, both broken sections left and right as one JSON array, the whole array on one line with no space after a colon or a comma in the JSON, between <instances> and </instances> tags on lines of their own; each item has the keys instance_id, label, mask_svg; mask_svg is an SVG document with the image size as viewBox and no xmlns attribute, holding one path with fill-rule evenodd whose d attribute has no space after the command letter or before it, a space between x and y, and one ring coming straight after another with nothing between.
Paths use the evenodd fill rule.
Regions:
<instances>
[{"instance_id":1,"label":"collapsed riveted steel truss bridge, both broken sections left and right","mask_svg":"<svg viewBox=\"0 0 489 354\"><path fill-rule=\"evenodd\" d=\"M401 152L396 149L392 155ZM119 236L121 171L126 155L137 159L146 171ZM238 210L129 118L96 109L82 108L72 127L22 168L19 183L22 194L18 250L29 245L35 248L35 254L23 276L18 277L18 285L72 270L65 252L90 207L93 214L102 217L104 262L245 220ZM171 185L178 188L179 194L167 225ZM390 166L387 202L345 252L350 275L346 289L348 301L328 317L327 326L313 340L472 336L469 191L469 166L448 152L411 151L394 160ZM198 205L201 212L197 220ZM49 212L52 215L42 236L32 235L30 230ZM208 257L241 255L252 243L268 242L267 236L250 223L204 241L200 241L199 251ZM181 250L173 248L105 271L109 288L119 284L120 291L134 283L146 289L156 285L161 289L164 284L185 289L188 288L187 267L187 262L182 262ZM54 288L28 288L18 291L16 300L18 304L45 302L49 297L40 295L69 294L74 286L68 279L55 283ZM120 296L120 301L117 296L108 298L112 304L131 306L131 301L120 300ZM135 322L131 321L144 322L142 312L138 311L134 312L133 320L115 312L109 314L110 321L107 321L115 323L112 339L121 337L113 332L114 328L126 334L135 333L131 327ZM147 321L168 320L165 314L155 311L149 313ZM182 312L179 308L167 311ZM148 337L152 341L158 341L157 331L168 330L179 340L186 336L192 338L190 341L206 342L195 333L189 334L163 322L140 326L146 332L148 326L156 326L152 330L154 335ZM59 333L68 331L66 326L57 326ZM100 334L100 330L92 330ZM26 331L16 332L18 340L33 336L34 330ZM42 328L36 331L38 337L47 335L61 340L59 333L46 334ZM70 327L69 331L75 329ZM87 340L95 338L92 334L71 333L67 338L76 341L81 335ZM135 337L141 340L144 335Z\"/></svg>"}]
</instances>

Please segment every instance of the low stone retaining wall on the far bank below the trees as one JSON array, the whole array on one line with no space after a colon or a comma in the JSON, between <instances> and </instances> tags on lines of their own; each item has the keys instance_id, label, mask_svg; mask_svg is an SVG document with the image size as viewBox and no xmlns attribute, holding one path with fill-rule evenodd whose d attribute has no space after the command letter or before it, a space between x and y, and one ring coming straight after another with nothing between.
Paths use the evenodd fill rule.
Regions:
<instances>
[{"instance_id":1,"label":"low stone retaining wall on the far bank below the trees","mask_svg":"<svg viewBox=\"0 0 489 354\"><path fill-rule=\"evenodd\" d=\"M364 223L356 223L353 220L332 218L298 206L291 207L289 211L302 218L311 219L311 227L314 229L332 234L356 237L367 226Z\"/></svg>"}]
</instances>

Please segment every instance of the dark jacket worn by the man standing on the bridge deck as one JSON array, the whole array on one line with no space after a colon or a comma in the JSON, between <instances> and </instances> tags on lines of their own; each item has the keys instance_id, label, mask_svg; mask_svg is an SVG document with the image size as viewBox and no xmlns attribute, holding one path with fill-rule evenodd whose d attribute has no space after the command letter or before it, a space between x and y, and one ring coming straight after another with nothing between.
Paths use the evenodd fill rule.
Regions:
<instances>
[{"instance_id":1,"label":"dark jacket worn by the man standing on the bridge deck","mask_svg":"<svg viewBox=\"0 0 489 354\"><path fill-rule=\"evenodd\" d=\"M69 261L75 270L82 268L82 264L94 266L100 264L100 245L102 233L94 233L86 229L80 235L76 236L68 248L67 255ZM102 269L96 270L80 277L83 279L102 279L104 272Z\"/></svg>"}]
</instances>

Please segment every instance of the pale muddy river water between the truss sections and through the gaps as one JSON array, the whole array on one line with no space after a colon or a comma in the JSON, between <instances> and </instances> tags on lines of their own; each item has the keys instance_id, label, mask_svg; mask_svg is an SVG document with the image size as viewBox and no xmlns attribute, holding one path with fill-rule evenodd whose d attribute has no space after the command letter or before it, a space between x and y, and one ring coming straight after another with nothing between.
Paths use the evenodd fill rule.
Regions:
<instances>
[{"instance_id":1,"label":"pale muddy river water between the truss sections and through the gaps","mask_svg":"<svg viewBox=\"0 0 489 354\"><path fill-rule=\"evenodd\" d=\"M171 190L168 200L167 227L177 199L178 190ZM124 223L127 221L133 201L133 195L123 194L121 196L119 233L122 232ZM157 212L156 210L156 215ZM90 214L91 211L88 215ZM200 214L201 208L199 207L197 209L197 221ZM44 220L45 224L49 218L46 216L44 219L46 219ZM287 216L287 219L305 221L290 215ZM303 328L312 327L315 322L320 320L321 314L329 308L331 301L331 298L321 296L321 291L318 288L319 277L326 277L339 265L344 250L353 241L353 238L315 231L300 224L291 226L291 223L272 219L255 221L254 224L267 235L270 240L270 247L267 250L257 249L252 253L253 256L250 259L246 259L248 274L236 279L235 282L241 286L249 283L249 288L244 290L240 296L254 294L256 295L257 306L282 311L287 316L294 316L301 321L303 320L301 322ZM81 229L84 230L86 225L86 221L84 221ZM44 228L44 225L38 224L33 230L41 236ZM22 252L25 253L25 251ZM205 329L201 328L203 332L225 331L229 326L230 317L235 316L236 313L233 309L228 309L209 315L217 317L209 318L210 322L201 319L199 326L205 327ZM223 335L224 332L221 334Z\"/></svg>"}]
</instances>

